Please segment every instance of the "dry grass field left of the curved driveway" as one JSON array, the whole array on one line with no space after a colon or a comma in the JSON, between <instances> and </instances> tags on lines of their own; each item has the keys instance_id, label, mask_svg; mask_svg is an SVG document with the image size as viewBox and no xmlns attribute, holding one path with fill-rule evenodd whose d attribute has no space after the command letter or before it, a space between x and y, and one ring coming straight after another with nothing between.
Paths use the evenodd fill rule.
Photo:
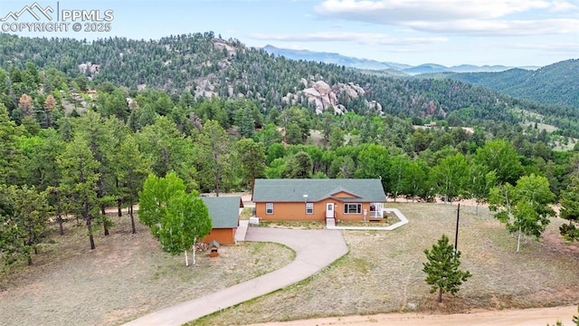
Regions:
<instances>
[{"instance_id":1,"label":"dry grass field left of the curved driveway","mask_svg":"<svg viewBox=\"0 0 579 326\"><path fill-rule=\"evenodd\" d=\"M112 217L108 236L89 249L86 228L67 223L33 257L33 266L0 264L0 325L115 325L203 296L289 264L282 245L222 246L220 256L198 255L185 268L184 255L160 250L147 227L130 234L128 216Z\"/></svg>"}]
</instances>

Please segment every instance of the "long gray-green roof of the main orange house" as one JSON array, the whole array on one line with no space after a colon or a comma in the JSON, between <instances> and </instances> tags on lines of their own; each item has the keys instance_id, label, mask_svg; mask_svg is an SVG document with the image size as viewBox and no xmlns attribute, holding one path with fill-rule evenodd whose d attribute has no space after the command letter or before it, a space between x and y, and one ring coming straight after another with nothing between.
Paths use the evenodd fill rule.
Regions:
<instances>
[{"instance_id":1,"label":"long gray-green roof of the main orange house","mask_svg":"<svg viewBox=\"0 0 579 326\"><path fill-rule=\"evenodd\" d=\"M383 203L384 187L379 179L256 179L253 202L318 202L346 192L356 201ZM353 201L354 198L337 198Z\"/></svg>"}]
</instances>

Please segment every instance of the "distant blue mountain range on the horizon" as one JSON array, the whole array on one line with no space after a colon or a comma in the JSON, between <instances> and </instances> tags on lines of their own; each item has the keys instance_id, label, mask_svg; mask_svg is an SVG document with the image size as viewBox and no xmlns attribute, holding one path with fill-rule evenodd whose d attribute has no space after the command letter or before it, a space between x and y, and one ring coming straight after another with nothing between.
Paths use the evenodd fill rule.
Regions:
<instances>
[{"instance_id":1,"label":"distant blue mountain range on the horizon","mask_svg":"<svg viewBox=\"0 0 579 326\"><path fill-rule=\"evenodd\" d=\"M446 67L441 64L424 63L418 66L412 66L397 62L378 62L369 59L360 59L341 55L339 53L324 53L312 52L308 50L290 50L277 48L272 45L263 47L266 53L271 53L277 56L284 56L292 60L305 60L311 62L326 62L337 65L344 65L346 67L365 69L365 70L394 70L397 72L404 72L410 75L420 73L439 73L439 72L504 72L514 67L507 67L503 65L484 65L477 66L471 64L460 64L457 66ZM519 67L526 70L535 70L538 67Z\"/></svg>"}]
</instances>

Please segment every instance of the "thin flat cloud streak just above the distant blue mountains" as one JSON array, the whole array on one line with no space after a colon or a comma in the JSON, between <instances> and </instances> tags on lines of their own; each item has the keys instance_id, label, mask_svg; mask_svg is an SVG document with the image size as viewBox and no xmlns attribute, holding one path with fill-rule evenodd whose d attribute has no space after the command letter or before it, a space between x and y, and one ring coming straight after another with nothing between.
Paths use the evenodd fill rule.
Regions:
<instances>
[{"instance_id":1,"label":"thin flat cloud streak just above the distant blue mountains","mask_svg":"<svg viewBox=\"0 0 579 326\"><path fill-rule=\"evenodd\" d=\"M444 37L395 38L388 34L319 32L303 34L250 34L250 37L264 41L282 42L353 42L365 45L422 45L447 42Z\"/></svg>"}]
</instances>

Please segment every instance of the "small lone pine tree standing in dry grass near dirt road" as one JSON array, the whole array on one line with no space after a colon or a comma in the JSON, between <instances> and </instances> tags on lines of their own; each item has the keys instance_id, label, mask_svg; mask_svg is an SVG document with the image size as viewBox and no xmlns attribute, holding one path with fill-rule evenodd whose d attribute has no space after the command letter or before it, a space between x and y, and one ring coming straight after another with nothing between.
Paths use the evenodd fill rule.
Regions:
<instances>
[{"instance_id":1,"label":"small lone pine tree standing in dry grass near dirt road","mask_svg":"<svg viewBox=\"0 0 579 326\"><path fill-rule=\"evenodd\" d=\"M422 272L426 273L426 283L431 285L431 293L438 291L437 302L442 302L442 293L455 294L460 290L460 285L472 276L469 271L461 271L460 251L454 251L449 244L449 238L442 235L432 250L424 250L427 263L422 263Z\"/></svg>"}]
</instances>

